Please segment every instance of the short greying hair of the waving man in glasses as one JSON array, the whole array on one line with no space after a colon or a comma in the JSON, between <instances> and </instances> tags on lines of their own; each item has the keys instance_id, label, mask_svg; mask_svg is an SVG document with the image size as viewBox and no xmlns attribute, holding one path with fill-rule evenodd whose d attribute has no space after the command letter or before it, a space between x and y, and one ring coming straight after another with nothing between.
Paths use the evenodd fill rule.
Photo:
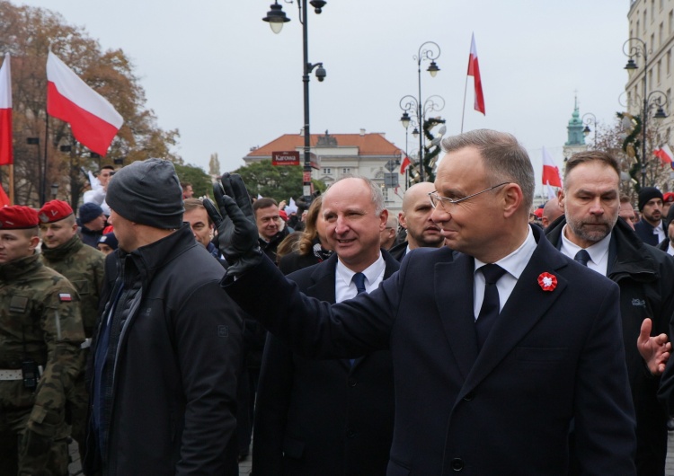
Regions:
<instances>
[{"instance_id":1,"label":"short greying hair of the waving man in glasses","mask_svg":"<svg viewBox=\"0 0 674 476\"><path fill-rule=\"evenodd\" d=\"M534 168L527 151L511 134L490 129L477 129L458 136L445 137L442 148L445 152L474 147L482 157L486 179L490 185L502 181L517 183L522 189L524 203L528 212L534 203Z\"/></svg>"}]
</instances>

